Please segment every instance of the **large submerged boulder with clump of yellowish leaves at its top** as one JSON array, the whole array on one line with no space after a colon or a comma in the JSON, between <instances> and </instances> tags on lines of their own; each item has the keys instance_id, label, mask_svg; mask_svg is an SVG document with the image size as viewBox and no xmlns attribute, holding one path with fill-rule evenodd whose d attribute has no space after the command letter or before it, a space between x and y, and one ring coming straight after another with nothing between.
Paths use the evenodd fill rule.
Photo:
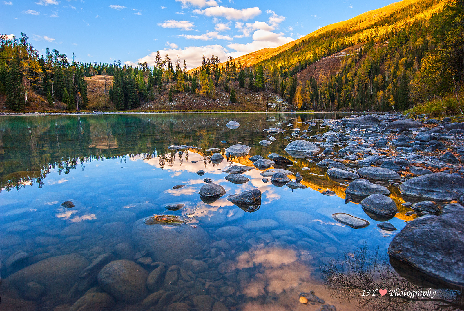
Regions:
<instances>
[{"instance_id":1,"label":"large submerged boulder with clump of yellowish leaves at its top","mask_svg":"<svg viewBox=\"0 0 464 311\"><path fill-rule=\"evenodd\" d=\"M139 219L132 228L132 239L155 261L162 261L170 266L190 256L200 255L209 236L198 226L147 225L145 219Z\"/></svg>"}]
</instances>

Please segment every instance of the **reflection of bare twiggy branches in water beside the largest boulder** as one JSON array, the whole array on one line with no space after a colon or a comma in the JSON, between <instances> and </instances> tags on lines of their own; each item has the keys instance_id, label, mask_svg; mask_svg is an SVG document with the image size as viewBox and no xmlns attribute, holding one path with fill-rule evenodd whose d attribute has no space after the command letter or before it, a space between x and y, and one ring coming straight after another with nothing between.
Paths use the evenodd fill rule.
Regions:
<instances>
[{"instance_id":1,"label":"reflection of bare twiggy branches in water beside the largest boulder","mask_svg":"<svg viewBox=\"0 0 464 311\"><path fill-rule=\"evenodd\" d=\"M427 292L428 287L417 286L403 278L390 265L388 255L379 248L369 250L367 245L353 253L345 253L343 260L332 260L320 267L324 285L339 298L352 301L360 309L387 311L416 310L464 310L463 291L432 289L435 295L422 296L392 295L390 290L401 292ZM381 296L380 289L387 289ZM367 291L371 295L367 295ZM372 296L372 290L377 290ZM365 296L363 296L365 293Z\"/></svg>"}]
</instances>

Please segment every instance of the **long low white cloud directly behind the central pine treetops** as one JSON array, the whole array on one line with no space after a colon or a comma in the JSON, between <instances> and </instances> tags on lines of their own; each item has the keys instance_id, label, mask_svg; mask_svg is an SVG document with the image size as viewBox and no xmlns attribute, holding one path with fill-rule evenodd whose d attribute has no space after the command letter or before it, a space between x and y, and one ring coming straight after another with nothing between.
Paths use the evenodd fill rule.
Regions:
<instances>
[{"instance_id":1,"label":"long low white cloud directly behind the central pine treetops","mask_svg":"<svg viewBox=\"0 0 464 311\"><path fill-rule=\"evenodd\" d=\"M184 49L166 49L160 51L162 55L169 54L171 56L179 55L181 60L186 61L187 69L196 68L201 65L203 55L217 55L219 59L226 60L230 55L226 48L220 44L206 45L206 46L189 46ZM174 58L174 57L172 57ZM149 55L142 57L137 62L147 62L150 66L155 66L156 52L150 53Z\"/></svg>"}]
</instances>

